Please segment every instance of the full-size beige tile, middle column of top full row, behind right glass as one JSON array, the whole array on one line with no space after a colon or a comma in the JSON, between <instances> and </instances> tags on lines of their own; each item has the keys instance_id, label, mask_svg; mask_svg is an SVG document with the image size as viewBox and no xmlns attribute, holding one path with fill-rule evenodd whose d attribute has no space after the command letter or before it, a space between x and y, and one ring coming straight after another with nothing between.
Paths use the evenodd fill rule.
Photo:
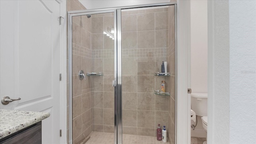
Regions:
<instances>
[{"instance_id":1,"label":"full-size beige tile, middle column of top full row, behind right glass","mask_svg":"<svg viewBox=\"0 0 256 144\"><path fill-rule=\"evenodd\" d=\"M137 14L138 31L155 30L155 14Z\"/></svg>"}]
</instances>

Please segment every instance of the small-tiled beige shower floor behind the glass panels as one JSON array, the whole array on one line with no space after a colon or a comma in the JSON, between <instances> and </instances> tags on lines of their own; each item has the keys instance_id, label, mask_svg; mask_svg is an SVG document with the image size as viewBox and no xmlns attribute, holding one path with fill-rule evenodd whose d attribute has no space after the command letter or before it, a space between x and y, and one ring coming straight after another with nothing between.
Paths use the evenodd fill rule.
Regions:
<instances>
[{"instance_id":1,"label":"small-tiled beige shower floor behind the glass panels","mask_svg":"<svg viewBox=\"0 0 256 144\"><path fill-rule=\"evenodd\" d=\"M92 132L89 136L90 139L85 144L114 144L114 133ZM169 141L164 143L154 136L123 134L123 144L169 144Z\"/></svg>"}]
</instances>

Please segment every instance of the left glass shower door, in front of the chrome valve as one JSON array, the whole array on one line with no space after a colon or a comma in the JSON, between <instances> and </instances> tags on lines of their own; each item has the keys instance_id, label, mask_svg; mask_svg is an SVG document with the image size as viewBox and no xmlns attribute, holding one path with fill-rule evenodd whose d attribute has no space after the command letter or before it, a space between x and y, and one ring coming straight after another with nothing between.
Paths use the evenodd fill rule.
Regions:
<instances>
[{"instance_id":1,"label":"left glass shower door, in front of the chrome valve","mask_svg":"<svg viewBox=\"0 0 256 144\"><path fill-rule=\"evenodd\" d=\"M114 10L71 16L70 140L76 144L98 136L114 143Z\"/></svg>"}]
</instances>

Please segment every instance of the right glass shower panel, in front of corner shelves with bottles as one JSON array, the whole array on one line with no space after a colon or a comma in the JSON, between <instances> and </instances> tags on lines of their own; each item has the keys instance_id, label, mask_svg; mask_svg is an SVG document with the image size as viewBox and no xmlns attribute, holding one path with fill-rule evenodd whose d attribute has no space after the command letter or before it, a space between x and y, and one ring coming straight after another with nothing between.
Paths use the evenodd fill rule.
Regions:
<instances>
[{"instance_id":1,"label":"right glass shower panel, in front of corner shelves with bottles","mask_svg":"<svg viewBox=\"0 0 256 144\"><path fill-rule=\"evenodd\" d=\"M121 27L122 142L157 143L160 124L167 130L164 139L174 143L174 5L123 9ZM168 63L165 74L163 62Z\"/></svg>"}]
</instances>

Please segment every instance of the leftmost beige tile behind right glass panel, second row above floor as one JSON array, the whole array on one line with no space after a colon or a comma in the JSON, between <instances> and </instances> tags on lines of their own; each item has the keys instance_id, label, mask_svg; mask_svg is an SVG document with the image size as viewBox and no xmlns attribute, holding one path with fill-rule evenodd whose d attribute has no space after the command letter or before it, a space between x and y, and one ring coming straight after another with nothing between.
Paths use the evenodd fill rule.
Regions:
<instances>
[{"instance_id":1,"label":"leftmost beige tile behind right glass panel, second row above floor","mask_svg":"<svg viewBox=\"0 0 256 144\"><path fill-rule=\"evenodd\" d=\"M122 126L137 126L137 111L122 110Z\"/></svg>"}]
</instances>

